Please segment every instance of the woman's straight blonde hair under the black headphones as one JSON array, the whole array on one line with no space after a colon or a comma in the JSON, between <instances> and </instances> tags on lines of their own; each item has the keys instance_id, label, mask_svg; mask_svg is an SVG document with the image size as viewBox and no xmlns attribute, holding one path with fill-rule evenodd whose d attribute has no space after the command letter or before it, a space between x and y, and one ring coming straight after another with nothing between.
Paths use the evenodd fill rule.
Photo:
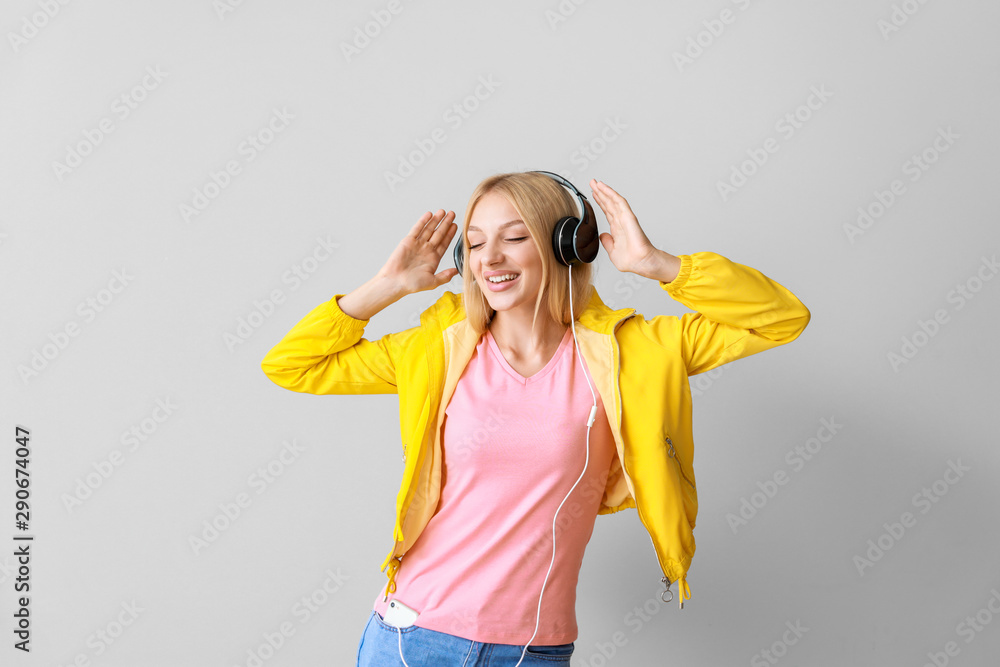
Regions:
<instances>
[{"instance_id":1,"label":"woman's straight blonde hair under the black headphones","mask_svg":"<svg viewBox=\"0 0 1000 667\"><path fill-rule=\"evenodd\" d=\"M579 200L566 188L545 174L534 172L511 172L495 174L483 180L469 199L465 210L465 221L462 225L463 267L462 298L469 323L478 334L483 334L489 328L496 310L490 307L483 296L479 283L472 275L469 261L469 221L476 205L484 196L490 193L503 196L518 212L521 220L528 228L535 248L542 258L542 289L538 291L535 301L535 316L531 321L532 330L538 319L538 309L543 295L548 296L548 311L556 322L569 326L571 320L579 314L590 302L593 285L591 278L593 265L583 262L573 265L573 309L569 299L569 271L556 259L552 248L552 230L560 218L566 216L579 217Z\"/></svg>"}]
</instances>

